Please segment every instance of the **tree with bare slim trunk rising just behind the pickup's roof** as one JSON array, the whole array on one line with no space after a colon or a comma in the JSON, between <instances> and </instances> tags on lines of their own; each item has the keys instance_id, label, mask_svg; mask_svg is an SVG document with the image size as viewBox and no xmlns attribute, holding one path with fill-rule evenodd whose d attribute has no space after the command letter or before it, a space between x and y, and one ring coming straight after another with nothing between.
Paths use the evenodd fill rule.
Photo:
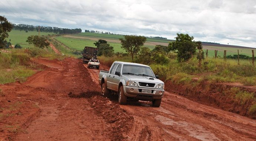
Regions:
<instances>
[{"instance_id":1,"label":"tree with bare slim trunk rising just behind the pickup's roof","mask_svg":"<svg viewBox=\"0 0 256 141\"><path fill-rule=\"evenodd\" d=\"M121 38L119 40L121 41L121 48L131 53L131 61L133 61L133 56L139 52L140 47L144 45L146 39L144 36L125 35L125 39Z\"/></svg>"}]
</instances>

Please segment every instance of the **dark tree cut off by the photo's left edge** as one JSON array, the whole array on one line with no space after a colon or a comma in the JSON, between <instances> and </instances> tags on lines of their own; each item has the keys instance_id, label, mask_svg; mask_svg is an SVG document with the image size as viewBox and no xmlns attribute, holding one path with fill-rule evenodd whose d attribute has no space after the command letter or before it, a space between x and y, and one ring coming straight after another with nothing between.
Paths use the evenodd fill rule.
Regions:
<instances>
[{"instance_id":1,"label":"dark tree cut off by the photo's left edge","mask_svg":"<svg viewBox=\"0 0 256 141\"><path fill-rule=\"evenodd\" d=\"M0 49L5 48L7 43L5 38L8 38L8 32L10 32L12 28L13 25L8 22L5 17L0 16Z\"/></svg>"}]
</instances>

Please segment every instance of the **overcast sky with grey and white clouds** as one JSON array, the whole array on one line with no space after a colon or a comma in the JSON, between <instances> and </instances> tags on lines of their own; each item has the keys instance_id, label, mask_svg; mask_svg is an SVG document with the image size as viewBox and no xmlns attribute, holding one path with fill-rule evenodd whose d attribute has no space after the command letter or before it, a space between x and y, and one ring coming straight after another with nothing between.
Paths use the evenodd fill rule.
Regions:
<instances>
[{"instance_id":1,"label":"overcast sky with grey and white clouds","mask_svg":"<svg viewBox=\"0 0 256 141\"><path fill-rule=\"evenodd\" d=\"M256 47L256 0L0 0L14 24Z\"/></svg>"}]
</instances>

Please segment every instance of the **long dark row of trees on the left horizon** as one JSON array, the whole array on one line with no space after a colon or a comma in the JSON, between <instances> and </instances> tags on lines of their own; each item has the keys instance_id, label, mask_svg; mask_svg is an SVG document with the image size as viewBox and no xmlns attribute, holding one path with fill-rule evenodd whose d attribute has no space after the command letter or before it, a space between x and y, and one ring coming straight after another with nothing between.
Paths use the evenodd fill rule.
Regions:
<instances>
[{"instance_id":1,"label":"long dark row of trees on the left horizon","mask_svg":"<svg viewBox=\"0 0 256 141\"><path fill-rule=\"evenodd\" d=\"M68 29L68 28L58 28L58 27L44 27L44 26L34 26L25 24L12 24L14 30L24 30L24 31L38 31L40 28L41 32L53 32L56 34L77 34L81 33L81 28Z\"/></svg>"}]
</instances>

